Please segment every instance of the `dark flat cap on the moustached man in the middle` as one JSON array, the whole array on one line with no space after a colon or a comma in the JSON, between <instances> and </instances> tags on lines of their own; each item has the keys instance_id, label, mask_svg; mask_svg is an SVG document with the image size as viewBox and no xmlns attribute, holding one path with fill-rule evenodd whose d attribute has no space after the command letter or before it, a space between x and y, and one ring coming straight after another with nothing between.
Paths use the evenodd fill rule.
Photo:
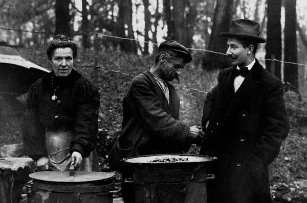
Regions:
<instances>
[{"instance_id":1,"label":"dark flat cap on the moustached man in the middle","mask_svg":"<svg viewBox=\"0 0 307 203\"><path fill-rule=\"evenodd\" d=\"M182 44L178 43L175 40L165 40L161 42L159 48L158 48L158 54L166 49L173 50L174 52L178 52L180 54L183 54L183 59L185 63L190 63L192 61L191 54L189 50Z\"/></svg>"}]
</instances>

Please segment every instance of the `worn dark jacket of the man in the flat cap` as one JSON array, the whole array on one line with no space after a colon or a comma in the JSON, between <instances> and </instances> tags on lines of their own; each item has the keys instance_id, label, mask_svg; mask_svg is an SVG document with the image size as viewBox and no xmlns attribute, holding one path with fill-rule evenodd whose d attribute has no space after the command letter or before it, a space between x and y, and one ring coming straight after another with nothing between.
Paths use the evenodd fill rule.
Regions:
<instances>
[{"instance_id":1,"label":"worn dark jacket of the man in the flat cap","mask_svg":"<svg viewBox=\"0 0 307 203\"><path fill-rule=\"evenodd\" d=\"M117 162L120 157L189 150L189 127L178 120L180 98L166 83L169 103L149 70L131 81L123 99L122 133L108 156L112 168L121 170Z\"/></svg>"}]
</instances>

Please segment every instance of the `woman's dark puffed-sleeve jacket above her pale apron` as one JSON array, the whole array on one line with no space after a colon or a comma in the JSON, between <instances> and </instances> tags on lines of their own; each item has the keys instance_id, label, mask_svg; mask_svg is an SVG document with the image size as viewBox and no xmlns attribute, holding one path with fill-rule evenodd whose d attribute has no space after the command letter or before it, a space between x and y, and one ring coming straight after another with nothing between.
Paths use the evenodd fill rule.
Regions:
<instances>
[{"instance_id":1,"label":"woman's dark puffed-sleeve jacket above her pale apron","mask_svg":"<svg viewBox=\"0 0 307 203\"><path fill-rule=\"evenodd\" d=\"M78 151L82 158L89 157L95 147L98 133L96 110L100 95L93 82L75 70L65 78L54 77L57 99L50 72L29 89L24 116L24 153L37 160L47 156L46 128L52 131L73 131L70 153Z\"/></svg>"}]
</instances>

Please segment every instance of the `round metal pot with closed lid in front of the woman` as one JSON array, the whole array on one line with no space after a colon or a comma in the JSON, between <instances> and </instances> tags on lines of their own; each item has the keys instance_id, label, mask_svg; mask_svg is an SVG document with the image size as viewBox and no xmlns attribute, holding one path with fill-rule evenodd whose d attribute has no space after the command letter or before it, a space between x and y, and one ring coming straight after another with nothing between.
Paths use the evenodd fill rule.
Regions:
<instances>
[{"instance_id":1,"label":"round metal pot with closed lid in front of the woman","mask_svg":"<svg viewBox=\"0 0 307 203\"><path fill-rule=\"evenodd\" d=\"M32 196L29 202L39 203L112 203L114 187L113 173L75 171L43 171L31 173Z\"/></svg>"}]
</instances>

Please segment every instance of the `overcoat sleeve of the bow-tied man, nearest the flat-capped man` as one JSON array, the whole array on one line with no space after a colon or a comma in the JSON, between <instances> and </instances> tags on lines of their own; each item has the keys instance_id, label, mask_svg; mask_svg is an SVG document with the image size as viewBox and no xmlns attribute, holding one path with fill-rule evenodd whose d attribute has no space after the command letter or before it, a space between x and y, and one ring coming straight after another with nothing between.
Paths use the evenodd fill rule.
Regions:
<instances>
[{"instance_id":1,"label":"overcoat sleeve of the bow-tied man, nearest the flat-capped man","mask_svg":"<svg viewBox=\"0 0 307 203\"><path fill-rule=\"evenodd\" d=\"M205 99L205 102L204 102L204 108L203 108L203 117L202 117L202 126L204 126L204 129L203 131L206 131L205 130L205 126L206 126L206 122L208 120L210 120L210 115L213 111L213 107L214 107L214 103L215 103L215 99L216 99L216 96L217 96L217 91L218 91L218 88L219 88L219 81L220 81L220 78L221 78L221 74L222 72L220 72L218 75L217 75L217 85L215 87L213 87L213 89L211 90L211 92L208 92L207 93L207 96L206 96L206 99Z\"/></svg>"}]
</instances>

